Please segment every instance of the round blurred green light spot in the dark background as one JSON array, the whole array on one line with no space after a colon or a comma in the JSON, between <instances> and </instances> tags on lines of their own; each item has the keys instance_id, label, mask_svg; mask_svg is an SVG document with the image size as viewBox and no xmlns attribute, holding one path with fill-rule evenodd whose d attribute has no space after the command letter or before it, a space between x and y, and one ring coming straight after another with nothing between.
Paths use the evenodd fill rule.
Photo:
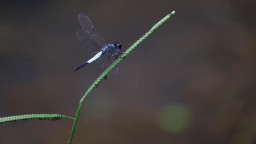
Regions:
<instances>
[{"instance_id":1,"label":"round blurred green light spot in the dark background","mask_svg":"<svg viewBox=\"0 0 256 144\"><path fill-rule=\"evenodd\" d=\"M159 110L158 125L162 130L171 133L184 131L190 122L190 110L185 105L172 104Z\"/></svg>"}]
</instances>

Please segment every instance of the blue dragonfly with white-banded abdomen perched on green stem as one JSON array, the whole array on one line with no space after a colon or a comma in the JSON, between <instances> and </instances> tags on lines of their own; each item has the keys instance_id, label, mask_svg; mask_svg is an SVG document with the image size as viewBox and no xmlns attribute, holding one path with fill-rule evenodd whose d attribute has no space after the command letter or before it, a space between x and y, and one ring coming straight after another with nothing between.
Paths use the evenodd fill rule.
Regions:
<instances>
[{"instance_id":1,"label":"blue dragonfly with white-banded abdomen perched on green stem","mask_svg":"<svg viewBox=\"0 0 256 144\"><path fill-rule=\"evenodd\" d=\"M77 31L77 37L82 47L88 50L88 53L93 57L85 63L79 65L73 71L83 68L85 65L94 62L96 59L98 59L98 65L100 65L101 68L108 68L114 59L118 58L118 54L121 55L121 43L115 42L114 44L106 44L104 38L100 33L98 33L88 15L84 13L79 14L78 21L80 24L80 29ZM112 73L117 73L118 70L119 67L116 66L112 70Z\"/></svg>"}]
</instances>

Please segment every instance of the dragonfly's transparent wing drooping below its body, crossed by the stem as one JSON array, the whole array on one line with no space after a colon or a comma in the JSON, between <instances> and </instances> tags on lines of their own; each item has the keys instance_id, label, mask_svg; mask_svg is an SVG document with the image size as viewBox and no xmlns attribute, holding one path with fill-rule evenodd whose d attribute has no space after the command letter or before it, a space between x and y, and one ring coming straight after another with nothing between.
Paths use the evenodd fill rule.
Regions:
<instances>
[{"instance_id":1,"label":"dragonfly's transparent wing drooping below its body, crossed by the stem","mask_svg":"<svg viewBox=\"0 0 256 144\"><path fill-rule=\"evenodd\" d=\"M115 57L114 56L109 56L108 53L102 55L99 60L98 60L98 65L100 65L100 67L102 69L107 69L109 67L110 64L112 64L115 61ZM117 73L119 70L119 65L116 65L110 72L111 73Z\"/></svg>"}]
</instances>

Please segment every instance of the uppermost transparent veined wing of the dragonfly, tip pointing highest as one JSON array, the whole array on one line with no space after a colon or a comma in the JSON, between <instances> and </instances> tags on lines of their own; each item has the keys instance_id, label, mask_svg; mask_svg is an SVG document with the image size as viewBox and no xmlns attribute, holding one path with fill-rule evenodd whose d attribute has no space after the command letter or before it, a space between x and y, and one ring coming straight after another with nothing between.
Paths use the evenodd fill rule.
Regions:
<instances>
[{"instance_id":1,"label":"uppermost transparent veined wing of the dragonfly, tip pointing highest","mask_svg":"<svg viewBox=\"0 0 256 144\"><path fill-rule=\"evenodd\" d=\"M90 40L95 41L95 43L100 45L100 47L103 47L106 44L104 38L101 36L100 33L98 33L98 31L92 24L91 20L89 19L88 15L83 14L83 13L79 14L78 21L79 21L79 24L80 24L83 32L86 35L88 35Z\"/></svg>"}]
</instances>

